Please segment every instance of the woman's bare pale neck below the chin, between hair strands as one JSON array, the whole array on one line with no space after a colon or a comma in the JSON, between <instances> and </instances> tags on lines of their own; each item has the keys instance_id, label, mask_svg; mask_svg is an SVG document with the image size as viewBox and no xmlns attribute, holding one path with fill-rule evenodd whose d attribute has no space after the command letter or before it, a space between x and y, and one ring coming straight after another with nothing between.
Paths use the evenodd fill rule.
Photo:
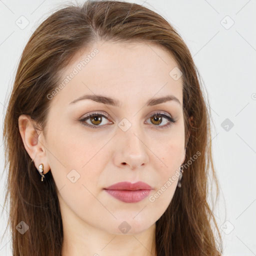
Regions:
<instances>
[{"instance_id":1,"label":"woman's bare pale neck below the chin, between hair strands","mask_svg":"<svg viewBox=\"0 0 256 256\"><path fill-rule=\"evenodd\" d=\"M64 227L64 226L63 226ZM157 256L155 224L140 234L110 234L87 226L87 230L63 228L62 256Z\"/></svg>"}]
</instances>

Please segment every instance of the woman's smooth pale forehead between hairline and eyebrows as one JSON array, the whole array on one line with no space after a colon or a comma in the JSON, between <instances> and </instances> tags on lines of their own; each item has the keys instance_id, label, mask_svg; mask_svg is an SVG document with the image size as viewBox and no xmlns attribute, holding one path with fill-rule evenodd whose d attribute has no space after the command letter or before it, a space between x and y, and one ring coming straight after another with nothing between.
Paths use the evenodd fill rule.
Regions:
<instances>
[{"instance_id":1,"label":"woman's smooth pale forehead between hairline and eyebrows","mask_svg":"<svg viewBox=\"0 0 256 256\"><path fill-rule=\"evenodd\" d=\"M99 41L74 54L62 70L59 83L64 88L55 98L69 103L85 93L100 93L120 101L140 101L171 93L182 102L182 77L175 80L170 75L177 66L170 52L159 45Z\"/></svg>"}]
</instances>

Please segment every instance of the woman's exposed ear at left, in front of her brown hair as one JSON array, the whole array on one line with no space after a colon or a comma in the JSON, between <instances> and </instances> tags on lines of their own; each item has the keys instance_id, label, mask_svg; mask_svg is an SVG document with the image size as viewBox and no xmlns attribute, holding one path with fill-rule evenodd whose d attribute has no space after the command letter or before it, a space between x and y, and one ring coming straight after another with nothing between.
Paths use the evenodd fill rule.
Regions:
<instances>
[{"instance_id":1,"label":"woman's exposed ear at left, in front of her brown hair","mask_svg":"<svg viewBox=\"0 0 256 256\"><path fill-rule=\"evenodd\" d=\"M24 147L39 171L39 164L43 163L43 174L50 169L45 150L45 139L42 132L37 134L35 130L35 121L29 115L21 114L18 117L19 133L21 135Z\"/></svg>"}]
</instances>

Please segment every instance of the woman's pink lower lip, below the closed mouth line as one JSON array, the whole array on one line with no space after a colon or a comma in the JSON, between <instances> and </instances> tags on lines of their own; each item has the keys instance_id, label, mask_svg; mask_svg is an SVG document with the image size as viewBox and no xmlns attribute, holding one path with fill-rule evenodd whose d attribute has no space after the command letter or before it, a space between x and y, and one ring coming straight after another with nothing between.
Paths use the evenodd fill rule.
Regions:
<instances>
[{"instance_id":1,"label":"woman's pink lower lip, below the closed mouth line","mask_svg":"<svg viewBox=\"0 0 256 256\"><path fill-rule=\"evenodd\" d=\"M110 190L105 189L110 195L123 202L139 202L151 192L149 189L141 190Z\"/></svg>"}]
</instances>

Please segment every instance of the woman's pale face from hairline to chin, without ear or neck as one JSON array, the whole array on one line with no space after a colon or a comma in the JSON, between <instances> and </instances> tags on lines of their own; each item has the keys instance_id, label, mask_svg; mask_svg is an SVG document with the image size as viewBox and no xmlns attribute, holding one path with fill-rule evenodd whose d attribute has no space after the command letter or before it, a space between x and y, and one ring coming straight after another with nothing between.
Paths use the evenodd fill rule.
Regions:
<instances>
[{"instance_id":1,"label":"woman's pale face from hairline to chin, without ear or neck","mask_svg":"<svg viewBox=\"0 0 256 256\"><path fill-rule=\"evenodd\" d=\"M64 221L135 234L166 210L185 157L177 70L159 46L102 41L63 70L62 86L48 95L44 146ZM122 181L152 189L105 189Z\"/></svg>"}]
</instances>

